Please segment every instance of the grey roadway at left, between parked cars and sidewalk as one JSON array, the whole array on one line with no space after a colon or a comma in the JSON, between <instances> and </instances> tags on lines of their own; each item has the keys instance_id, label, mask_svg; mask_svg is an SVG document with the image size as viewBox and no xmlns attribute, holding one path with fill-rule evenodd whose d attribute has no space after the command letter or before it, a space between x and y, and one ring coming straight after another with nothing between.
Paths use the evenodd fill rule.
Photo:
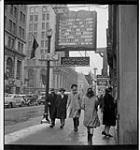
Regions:
<instances>
[{"instance_id":1,"label":"grey roadway at left, between parked cars and sidewalk","mask_svg":"<svg viewBox=\"0 0 140 150\"><path fill-rule=\"evenodd\" d=\"M44 105L5 109L5 134L34 125L34 118L40 118L43 112Z\"/></svg>"}]
</instances>

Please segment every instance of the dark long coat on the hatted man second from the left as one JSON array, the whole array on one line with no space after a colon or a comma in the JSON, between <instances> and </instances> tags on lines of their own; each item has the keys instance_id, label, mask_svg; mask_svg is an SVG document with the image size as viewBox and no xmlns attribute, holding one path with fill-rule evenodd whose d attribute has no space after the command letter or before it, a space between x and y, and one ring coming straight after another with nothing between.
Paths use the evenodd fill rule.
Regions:
<instances>
[{"instance_id":1,"label":"dark long coat on the hatted man second from the left","mask_svg":"<svg viewBox=\"0 0 140 150\"><path fill-rule=\"evenodd\" d=\"M66 106L67 106L67 99L68 99L68 96L67 95L64 95L64 97L62 98L61 95L58 95L57 96L57 99L56 99L56 109L57 109L57 118L58 119L66 119L66 116L67 116L67 109L66 109Z\"/></svg>"}]
</instances>

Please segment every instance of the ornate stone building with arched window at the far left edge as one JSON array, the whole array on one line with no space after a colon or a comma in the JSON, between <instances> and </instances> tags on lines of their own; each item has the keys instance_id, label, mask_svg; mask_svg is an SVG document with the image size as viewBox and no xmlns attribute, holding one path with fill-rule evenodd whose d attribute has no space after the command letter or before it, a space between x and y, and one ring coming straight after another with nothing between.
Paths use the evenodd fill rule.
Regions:
<instances>
[{"instance_id":1,"label":"ornate stone building with arched window at the far left edge","mask_svg":"<svg viewBox=\"0 0 140 150\"><path fill-rule=\"evenodd\" d=\"M24 85L26 5L5 5L5 92L21 93Z\"/></svg>"}]
</instances>

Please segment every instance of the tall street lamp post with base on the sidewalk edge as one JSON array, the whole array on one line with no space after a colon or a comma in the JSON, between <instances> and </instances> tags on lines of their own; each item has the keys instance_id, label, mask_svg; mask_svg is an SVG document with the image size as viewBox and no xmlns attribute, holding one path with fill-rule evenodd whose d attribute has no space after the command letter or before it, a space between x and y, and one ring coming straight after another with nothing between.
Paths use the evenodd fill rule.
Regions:
<instances>
[{"instance_id":1,"label":"tall street lamp post with base on the sidewalk edge","mask_svg":"<svg viewBox=\"0 0 140 150\"><path fill-rule=\"evenodd\" d=\"M48 54L50 53L50 46L51 46L51 37L52 37L52 29L47 31L48 37ZM46 68L46 94L45 94L45 109L42 122L50 123L48 119L48 95L49 95L49 74L50 74L50 60L47 60L47 68Z\"/></svg>"}]
</instances>

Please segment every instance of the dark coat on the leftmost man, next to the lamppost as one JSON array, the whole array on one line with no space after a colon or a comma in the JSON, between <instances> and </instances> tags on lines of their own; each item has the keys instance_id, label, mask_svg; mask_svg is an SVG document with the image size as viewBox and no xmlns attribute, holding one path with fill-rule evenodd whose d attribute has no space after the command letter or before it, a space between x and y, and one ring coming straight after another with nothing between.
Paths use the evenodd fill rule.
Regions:
<instances>
[{"instance_id":1,"label":"dark coat on the leftmost man, next to the lamppost","mask_svg":"<svg viewBox=\"0 0 140 150\"><path fill-rule=\"evenodd\" d=\"M49 113L50 113L50 118L54 119L56 118L56 98L57 94L49 94L48 98L48 103L49 104Z\"/></svg>"}]
</instances>

